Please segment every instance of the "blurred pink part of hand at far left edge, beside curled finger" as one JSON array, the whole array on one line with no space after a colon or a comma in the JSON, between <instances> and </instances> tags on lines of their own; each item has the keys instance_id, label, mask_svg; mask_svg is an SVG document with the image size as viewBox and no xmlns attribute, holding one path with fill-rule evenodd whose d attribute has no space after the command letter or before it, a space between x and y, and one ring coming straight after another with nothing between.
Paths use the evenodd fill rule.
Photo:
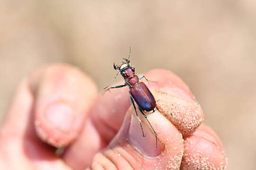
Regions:
<instances>
[{"instance_id":1,"label":"blurred pink part of hand at far left edge, beside curled finger","mask_svg":"<svg viewBox=\"0 0 256 170\"><path fill-rule=\"evenodd\" d=\"M0 129L0 169L58 169L70 170L55 156L51 148L40 143L33 128L33 95L27 79L18 86ZM31 134L34 134L32 136Z\"/></svg>"}]
</instances>

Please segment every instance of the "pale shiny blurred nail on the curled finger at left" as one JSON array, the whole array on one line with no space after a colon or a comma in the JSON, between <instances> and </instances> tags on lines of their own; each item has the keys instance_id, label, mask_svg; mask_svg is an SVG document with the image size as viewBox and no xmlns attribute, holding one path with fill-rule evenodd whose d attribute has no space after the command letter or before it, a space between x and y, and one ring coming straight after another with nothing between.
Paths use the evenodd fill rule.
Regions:
<instances>
[{"instance_id":1,"label":"pale shiny blurred nail on the curled finger at left","mask_svg":"<svg viewBox=\"0 0 256 170\"><path fill-rule=\"evenodd\" d=\"M73 110L62 102L50 104L45 112L46 120L59 130L68 132L73 123Z\"/></svg>"}]
</instances>

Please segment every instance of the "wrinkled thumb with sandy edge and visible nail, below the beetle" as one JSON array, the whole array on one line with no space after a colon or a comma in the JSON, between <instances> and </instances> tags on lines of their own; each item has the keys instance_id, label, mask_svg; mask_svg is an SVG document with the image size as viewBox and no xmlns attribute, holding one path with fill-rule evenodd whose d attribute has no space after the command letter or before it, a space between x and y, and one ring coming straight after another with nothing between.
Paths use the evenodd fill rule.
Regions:
<instances>
[{"instance_id":1,"label":"wrinkled thumb with sandy edge and visible nail, below the beetle","mask_svg":"<svg viewBox=\"0 0 256 170\"><path fill-rule=\"evenodd\" d=\"M182 134L158 110L147 114L147 119L158 133L156 148L152 128L142 114L139 115L145 137L142 136L135 110L131 106L119 133L106 149L95 155L92 170L179 169L183 155Z\"/></svg>"}]
</instances>

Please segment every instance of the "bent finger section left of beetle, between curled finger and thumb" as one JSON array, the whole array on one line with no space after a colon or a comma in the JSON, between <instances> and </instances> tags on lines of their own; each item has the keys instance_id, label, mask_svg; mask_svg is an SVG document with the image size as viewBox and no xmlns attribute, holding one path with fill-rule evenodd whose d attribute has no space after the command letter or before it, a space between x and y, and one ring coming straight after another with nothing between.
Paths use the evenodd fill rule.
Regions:
<instances>
[{"instance_id":1,"label":"bent finger section left of beetle, between curled finger and thumb","mask_svg":"<svg viewBox=\"0 0 256 170\"><path fill-rule=\"evenodd\" d=\"M116 85L122 85L119 82ZM91 164L93 156L117 134L130 106L128 87L99 94L79 138L64 152L64 161L75 170Z\"/></svg>"}]
</instances>

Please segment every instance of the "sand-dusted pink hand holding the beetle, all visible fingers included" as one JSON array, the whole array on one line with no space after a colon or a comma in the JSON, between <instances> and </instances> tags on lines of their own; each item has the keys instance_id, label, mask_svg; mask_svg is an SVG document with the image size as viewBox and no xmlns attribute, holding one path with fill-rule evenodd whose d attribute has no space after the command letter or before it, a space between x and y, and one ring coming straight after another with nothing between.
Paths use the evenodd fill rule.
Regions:
<instances>
[{"instance_id":1,"label":"sand-dusted pink hand holding the beetle, all visible fingers included","mask_svg":"<svg viewBox=\"0 0 256 170\"><path fill-rule=\"evenodd\" d=\"M157 101L147 114L157 148L140 117L142 136L128 87L98 93L79 69L55 64L19 84L0 129L0 169L223 170L221 141L201 124L203 112L188 86L163 69L145 76L157 82L145 82ZM66 147L57 156L53 146Z\"/></svg>"}]
</instances>

